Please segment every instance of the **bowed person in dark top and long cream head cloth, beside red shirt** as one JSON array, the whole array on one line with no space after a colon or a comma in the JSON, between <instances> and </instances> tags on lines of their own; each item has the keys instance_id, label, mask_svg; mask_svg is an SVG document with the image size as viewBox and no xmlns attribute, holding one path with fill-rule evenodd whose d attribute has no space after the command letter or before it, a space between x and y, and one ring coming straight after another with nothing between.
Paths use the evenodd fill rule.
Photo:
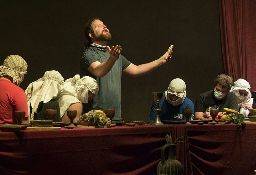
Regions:
<instances>
[{"instance_id":1,"label":"bowed person in dark top and long cream head cloth, beside red shirt","mask_svg":"<svg viewBox=\"0 0 256 175\"><path fill-rule=\"evenodd\" d=\"M45 110L57 110L54 122L60 122L60 107L56 97L64 91L60 72L46 71L44 76L28 85L25 90L30 120L47 120Z\"/></svg>"}]
</instances>

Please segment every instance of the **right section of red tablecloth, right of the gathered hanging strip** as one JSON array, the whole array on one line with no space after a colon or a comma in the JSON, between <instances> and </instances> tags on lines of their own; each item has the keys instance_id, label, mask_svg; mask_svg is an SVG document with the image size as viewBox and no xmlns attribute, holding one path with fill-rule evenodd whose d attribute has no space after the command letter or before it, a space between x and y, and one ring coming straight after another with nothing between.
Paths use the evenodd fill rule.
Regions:
<instances>
[{"instance_id":1,"label":"right section of red tablecloth, right of the gathered hanging strip","mask_svg":"<svg viewBox=\"0 0 256 175\"><path fill-rule=\"evenodd\" d=\"M252 174L256 170L256 124L186 126L193 173Z\"/></svg>"}]
</instances>

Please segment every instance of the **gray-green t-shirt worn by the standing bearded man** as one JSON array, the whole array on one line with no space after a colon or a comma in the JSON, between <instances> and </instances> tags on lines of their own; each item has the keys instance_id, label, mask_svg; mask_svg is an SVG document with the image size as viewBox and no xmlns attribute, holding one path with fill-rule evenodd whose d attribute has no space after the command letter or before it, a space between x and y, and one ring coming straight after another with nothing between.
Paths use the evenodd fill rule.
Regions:
<instances>
[{"instance_id":1,"label":"gray-green t-shirt worn by the standing bearded man","mask_svg":"<svg viewBox=\"0 0 256 175\"><path fill-rule=\"evenodd\" d=\"M131 62L120 55L111 70L104 77L95 77L88 71L89 66L96 61L105 62L109 58L108 51L98 50L95 47L89 47L81 57L81 76L90 76L94 78L99 85L98 94L85 104L86 110L115 109L115 117L112 120L121 118L121 78L122 71L127 68Z\"/></svg>"}]
</instances>

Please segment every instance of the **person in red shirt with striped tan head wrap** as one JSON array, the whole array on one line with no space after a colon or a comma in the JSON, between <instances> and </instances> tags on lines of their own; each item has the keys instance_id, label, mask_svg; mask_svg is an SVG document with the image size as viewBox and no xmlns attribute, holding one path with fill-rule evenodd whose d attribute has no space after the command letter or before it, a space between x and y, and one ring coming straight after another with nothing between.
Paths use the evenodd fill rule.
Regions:
<instances>
[{"instance_id":1,"label":"person in red shirt with striped tan head wrap","mask_svg":"<svg viewBox=\"0 0 256 175\"><path fill-rule=\"evenodd\" d=\"M26 61L18 55L6 57L0 66L0 124L17 123L15 110L25 111L23 123L29 123L27 97L19 87L27 67Z\"/></svg>"}]
</instances>

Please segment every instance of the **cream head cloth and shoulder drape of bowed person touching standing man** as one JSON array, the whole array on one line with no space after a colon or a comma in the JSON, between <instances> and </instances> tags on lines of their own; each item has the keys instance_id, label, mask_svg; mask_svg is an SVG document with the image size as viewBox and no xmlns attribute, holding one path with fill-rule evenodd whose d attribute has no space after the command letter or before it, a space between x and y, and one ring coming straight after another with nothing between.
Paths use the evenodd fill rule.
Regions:
<instances>
[{"instance_id":1,"label":"cream head cloth and shoulder drape of bowed person touching standing man","mask_svg":"<svg viewBox=\"0 0 256 175\"><path fill-rule=\"evenodd\" d=\"M80 79L80 75L67 79L64 82L64 91L58 96L60 116L63 117L66 110L73 103L88 103L88 90L97 95L99 91L96 80L89 76Z\"/></svg>"}]
</instances>

